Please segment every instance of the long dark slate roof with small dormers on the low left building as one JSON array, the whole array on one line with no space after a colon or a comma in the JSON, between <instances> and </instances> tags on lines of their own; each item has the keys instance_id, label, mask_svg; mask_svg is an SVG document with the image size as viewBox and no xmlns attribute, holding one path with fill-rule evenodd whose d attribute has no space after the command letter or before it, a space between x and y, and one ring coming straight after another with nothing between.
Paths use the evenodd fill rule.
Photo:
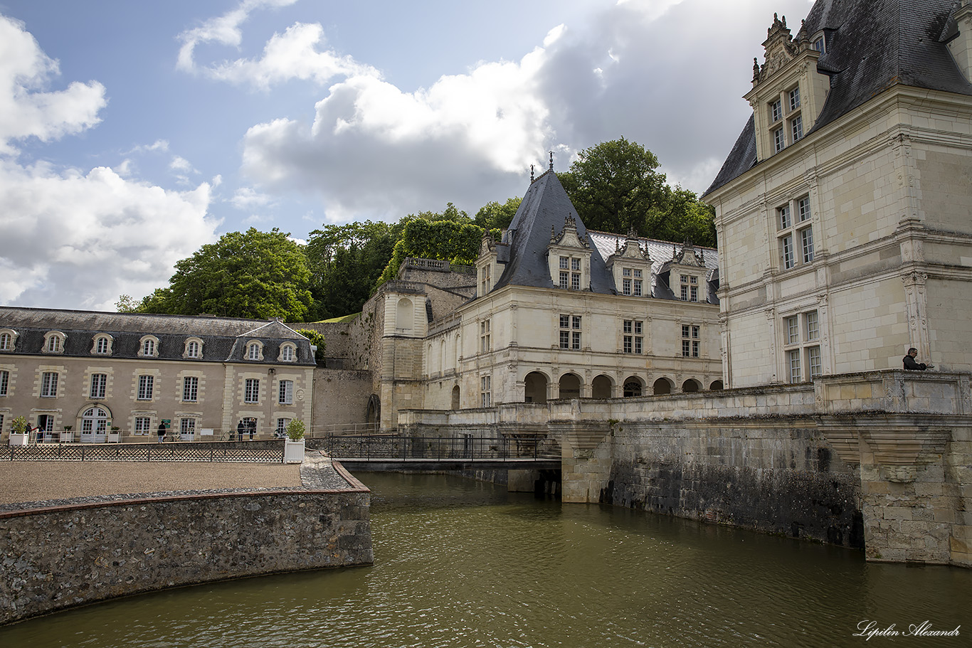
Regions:
<instances>
[{"instance_id":1,"label":"long dark slate roof with small dormers on the low left building","mask_svg":"<svg viewBox=\"0 0 972 648\"><path fill-rule=\"evenodd\" d=\"M296 346L296 360L288 365L315 366L310 341L281 322L243 320L236 318L190 317L182 315L142 315L133 313L101 313L44 308L0 306L0 328L17 332L13 353L17 355L68 356L84 358L139 358L141 338L158 338L156 360L180 360L186 350L186 340L202 340L201 361L252 362L246 359L246 342L259 340L263 344L262 363L277 363L280 345L285 341ZM64 352L47 354L42 351L44 336L58 330L67 336ZM91 354L95 335L112 336L111 356ZM0 358L8 352L0 352Z\"/></svg>"}]
</instances>

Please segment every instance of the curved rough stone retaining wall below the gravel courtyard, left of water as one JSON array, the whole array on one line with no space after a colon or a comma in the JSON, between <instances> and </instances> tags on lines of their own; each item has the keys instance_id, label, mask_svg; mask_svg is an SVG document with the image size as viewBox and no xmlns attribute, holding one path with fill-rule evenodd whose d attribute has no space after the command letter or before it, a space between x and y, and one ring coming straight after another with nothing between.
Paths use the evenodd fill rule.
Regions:
<instances>
[{"instance_id":1,"label":"curved rough stone retaining wall below the gravel courtyard, left of water","mask_svg":"<svg viewBox=\"0 0 972 648\"><path fill-rule=\"evenodd\" d=\"M0 624L242 576L370 564L370 493L157 494L0 513Z\"/></svg>"}]
</instances>

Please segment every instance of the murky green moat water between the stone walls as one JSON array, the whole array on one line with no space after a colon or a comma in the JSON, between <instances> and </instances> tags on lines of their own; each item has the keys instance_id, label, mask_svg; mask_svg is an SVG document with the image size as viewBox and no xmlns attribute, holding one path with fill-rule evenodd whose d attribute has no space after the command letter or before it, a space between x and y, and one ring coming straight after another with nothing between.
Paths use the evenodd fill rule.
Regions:
<instances>
[{"instance_id":1,"label":"murky green moat water between the stone walls","mask_svg":"<svg viewBox=\"0 0 972 648\"><path fill-rule=\"evenodd\" d=\"M972 645L972 570L441 475L363 474L375 564L129 597L0 628L0 646L858 646L858 624ZM966 624L968 624L966 626Z\"/></svg>"}]
</instances>

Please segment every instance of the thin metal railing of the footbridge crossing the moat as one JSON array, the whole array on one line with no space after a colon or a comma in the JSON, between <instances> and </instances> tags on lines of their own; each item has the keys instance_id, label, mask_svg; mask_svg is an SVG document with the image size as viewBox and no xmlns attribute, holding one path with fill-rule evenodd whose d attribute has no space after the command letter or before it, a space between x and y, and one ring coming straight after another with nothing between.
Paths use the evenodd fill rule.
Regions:
<instances>
[{"instance_id":1,"label":"thin metal railing of the footbridge crossing the moat","mask_svg":"<svg viewBox=\"0 0 972 648\"><path fill-rule=\"evenodd\" d=\"M329 435L328 454L336 460L517 460L550 459L542 438L495 436Z\"/></svg>"}]
</instances>

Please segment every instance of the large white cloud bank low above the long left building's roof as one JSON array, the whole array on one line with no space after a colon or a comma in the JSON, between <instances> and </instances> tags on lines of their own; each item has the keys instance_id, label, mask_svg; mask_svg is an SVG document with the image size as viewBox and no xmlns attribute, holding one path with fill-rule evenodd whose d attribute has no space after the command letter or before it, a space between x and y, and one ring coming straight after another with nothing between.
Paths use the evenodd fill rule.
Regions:
<instances>
[{"instance_id":1,"label":"large white cloud bank low above the long left building's roof","mask_svg":"<svg viewBox=\"0 0 972 648\"><path fill-rule=\"evenodd\" d=\"M106 167L87 175L0 163L0 303L112 309L165 286L215 239L210 186L171 191Z\"/></svg>"}]
</instances>

